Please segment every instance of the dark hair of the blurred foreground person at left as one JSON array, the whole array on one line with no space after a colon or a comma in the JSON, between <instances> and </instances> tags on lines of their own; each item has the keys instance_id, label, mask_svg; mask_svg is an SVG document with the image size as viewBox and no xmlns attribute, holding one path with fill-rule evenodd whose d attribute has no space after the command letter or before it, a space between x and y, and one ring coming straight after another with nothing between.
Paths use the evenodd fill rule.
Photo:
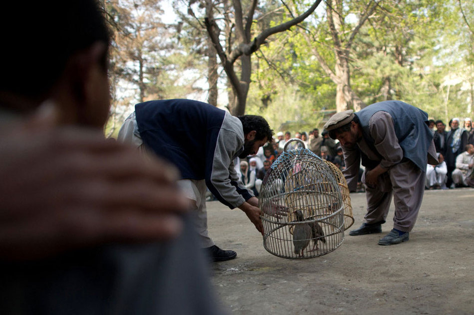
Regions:
<instances>
[{"instance_id":1,"label":"dark hair of the blurred foreground person at left","mask_svg":"<svg viewBox=\"0 0 474 315\"><path fill-rule=\"evenodd\" d=\"M0 91L43 96L71 55L96 41L108 48L109 31L96 0L5 1L2 12L8 16L0 18ZM102 59L105 70L107 52Z\"/></svg>"}]
</instances>

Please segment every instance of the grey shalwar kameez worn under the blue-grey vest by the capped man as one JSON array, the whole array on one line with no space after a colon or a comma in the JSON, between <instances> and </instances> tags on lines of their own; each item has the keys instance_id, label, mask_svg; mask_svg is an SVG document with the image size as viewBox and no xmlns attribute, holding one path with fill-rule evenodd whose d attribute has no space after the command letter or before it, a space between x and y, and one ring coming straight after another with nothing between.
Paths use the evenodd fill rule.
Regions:
<instances>
[{"instance_id":1,"label":"grey shalwar kameez worn under the blue-grey vest by the capped man","mask_svg":"<svg viewBox=\"0 0 474 315\"><path fill-rule=\"evenodd\" d=\"M415 225L423 200L426 165L425 169L421 169L412 160L404 157L404 151L395 132L394 121L388 112L383 110L375 112L369 119L368 130L374 140L373 145L363 137L357 143L358 148L343 148L346 162L346 169L343 172L349 189L353 191L357 186L362 151L370 160L378 161L381 167L388 169L378 177L376 186L366 185L366 222L386 221L393 193L395 201L394 228L409 232ZM436 159L433 140L428 154ZM366 172L375 166L366 165L362 176L364 183Z\"/></svg>"}]
</instances>

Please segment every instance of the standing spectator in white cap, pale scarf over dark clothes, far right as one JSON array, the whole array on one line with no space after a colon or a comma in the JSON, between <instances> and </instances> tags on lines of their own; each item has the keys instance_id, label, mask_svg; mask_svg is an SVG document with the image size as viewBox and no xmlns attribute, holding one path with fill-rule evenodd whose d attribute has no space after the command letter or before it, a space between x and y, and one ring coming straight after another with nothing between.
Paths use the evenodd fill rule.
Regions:
<instances>
[{"instance_id":1,"label":"standing spectator in white cap, pale scarf over dark clothes, far right","mask_svg":"<svg viewBox=\"0 0 474 315\"><path fill-rule=\"evenodd\" d=\"M461 154L468 144L468 132L459 127L459 118L451 119L451 130L446 137L447 147L445 161L448 166L448 180L446 185L449 188L454 187L452 173L456 169L456 157Z\"/></svg>"}]
</instances>

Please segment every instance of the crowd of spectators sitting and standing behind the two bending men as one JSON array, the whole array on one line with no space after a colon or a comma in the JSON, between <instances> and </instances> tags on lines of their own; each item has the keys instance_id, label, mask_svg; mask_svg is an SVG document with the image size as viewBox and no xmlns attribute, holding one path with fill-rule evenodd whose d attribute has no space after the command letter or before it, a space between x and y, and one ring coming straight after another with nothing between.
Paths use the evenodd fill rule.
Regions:
<instances>
[{"instance_id":1,"label":"crowd of spectators sitting and standing behind the two bending men","mask_svg":"<svg viewBox=\"0 0 474 315\"><path fill-rule=\"evenodd\" d=\"M426 189L449 189L457 187L474 187L474 129L473 120L470 117L460 119L452 118L448 126L443 120L430 119L430 127L433 130L436 151L439 164L427 165ZM268 142L260 148L257 154L249 155L245 159L234 160L235 170L239 174L245 186L258 196L262 180L273 161L283 152L285 144L291 138L301 139L305 147L310 149L319 157L334 163L339 169L344 170L343 149L337 140L329 137L326 130L320 133L319 128L310 131L279 131ZM290 148L301 146L301 143L290 143ZM361 174L357 192L364 191L361 182ZM208 200L214 196L208 191Z\"/></svg>"}]
</instances>

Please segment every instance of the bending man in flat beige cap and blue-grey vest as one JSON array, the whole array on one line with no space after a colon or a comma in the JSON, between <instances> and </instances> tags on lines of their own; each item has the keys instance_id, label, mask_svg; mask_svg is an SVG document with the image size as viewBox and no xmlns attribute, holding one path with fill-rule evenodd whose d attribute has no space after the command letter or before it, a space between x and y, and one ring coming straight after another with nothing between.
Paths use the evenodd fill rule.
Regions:
<instances>
[{"instance_id":1,"label":"bending man in flat beige cap and blue-grey vest","mask_svg":"<svg viewBox=\"0 0 474 315\"><path fill-rule=\"evenodd\" d=\"M346 162L343 173L351 191L356 189L361 159L366 167L362 176L365 222L349 235L382 232L393 194L394 228L379 244L409 240L423 200L426 165L438 164L428 114L405 102L387 100L358 112L338 112L324 127L341 142Z\"/></svg>"}]
</instances>

